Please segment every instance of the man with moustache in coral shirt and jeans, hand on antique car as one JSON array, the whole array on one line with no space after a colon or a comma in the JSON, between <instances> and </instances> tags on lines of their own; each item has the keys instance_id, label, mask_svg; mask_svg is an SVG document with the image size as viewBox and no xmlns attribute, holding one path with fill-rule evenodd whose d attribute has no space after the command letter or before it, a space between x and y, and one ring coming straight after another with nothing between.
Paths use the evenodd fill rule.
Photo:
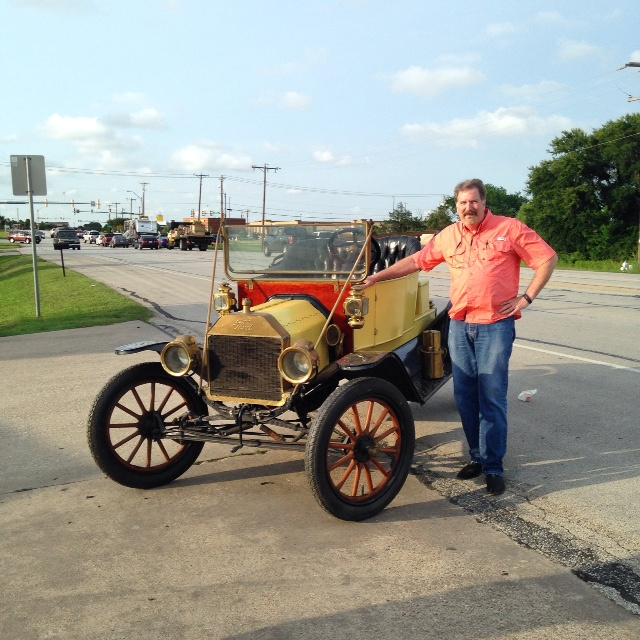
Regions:
<instances>
[{"instance_id":1,"label":"man with moustache in coral shirt and jeans, hand on antique car","mask_svg":"<svg viewBox=\"0 0 640 640\"><path fill-rule=\"evenodd\" d=\"M505 490L502 461L507 450L507 385L515 320L547 284L558 257L519 220L491 213L481 180L461 182L454 196L460 222L443 229L420 252L370 275L364 288L447 263L454 396L471 458L458 478L484 473L487 491L499 495ZM520 295L522 260L536 273Z\"/></svg>"}]
</instances>

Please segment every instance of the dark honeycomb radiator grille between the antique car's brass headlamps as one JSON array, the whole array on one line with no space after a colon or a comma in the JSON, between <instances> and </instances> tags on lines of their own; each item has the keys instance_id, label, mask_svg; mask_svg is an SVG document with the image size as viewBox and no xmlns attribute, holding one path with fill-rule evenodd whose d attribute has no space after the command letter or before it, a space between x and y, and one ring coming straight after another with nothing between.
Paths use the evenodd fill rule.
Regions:
<instances>
[{"instance_id":1,"label":"dark honeycomb radiator grille between the antique car's brass headlamps","mask_svg":"<svg viewBox=\"0 0 640 640\"><path fill-rule=\"evenodd\" d=\"M214 396L282 399L281 338L210 335L209 389Z\"/></svg>"}]
</instances>

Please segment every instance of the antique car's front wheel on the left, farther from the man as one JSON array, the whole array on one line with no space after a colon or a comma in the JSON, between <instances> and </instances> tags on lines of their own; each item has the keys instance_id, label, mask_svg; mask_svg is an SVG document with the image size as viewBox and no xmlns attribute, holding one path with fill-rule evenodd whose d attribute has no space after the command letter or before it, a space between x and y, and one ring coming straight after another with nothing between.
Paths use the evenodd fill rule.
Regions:
<instances>
[{"instance_id":1,"label":"antique car's front wheel on the left, farther from the man","mask_svg":"<svg viewBox=\"0 0 640 640\"><path fill-rule=\"evenodd\" d=\"M114 376L98 394L87 425L96 464L115 482L152 489L181 476L197 460L203 442L163 439L160 424L207 408L182 378L159 362L133 365Z\"/></svg>"}]
</instances>

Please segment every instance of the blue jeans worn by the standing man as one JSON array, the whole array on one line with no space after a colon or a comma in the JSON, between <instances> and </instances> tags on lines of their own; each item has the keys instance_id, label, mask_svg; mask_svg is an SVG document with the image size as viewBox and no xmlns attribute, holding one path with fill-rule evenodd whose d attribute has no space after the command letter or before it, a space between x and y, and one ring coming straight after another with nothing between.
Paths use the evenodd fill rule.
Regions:
<instances>
[{"instance_id":1,"label":"blue jeans worn by the standing man","mask_svg":"<svg viewBox=\"0 0 640 640\"><path fill-rule=\"evenodd\" d=\"M469 455L482 464L485 475L504 473L509 358L515 337L513 318L494 324L452 320L449 329L453 393Z\"/></svg>"}]
</instances>

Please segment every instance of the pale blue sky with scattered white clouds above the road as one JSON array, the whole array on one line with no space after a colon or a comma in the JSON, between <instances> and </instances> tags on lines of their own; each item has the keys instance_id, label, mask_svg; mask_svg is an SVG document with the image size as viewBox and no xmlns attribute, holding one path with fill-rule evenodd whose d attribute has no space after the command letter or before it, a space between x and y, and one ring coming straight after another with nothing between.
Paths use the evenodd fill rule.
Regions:
<instances>
[{"instance_id":1,"label":"pale blue sky with scattered white clouds above the road","mask_svg":"<svg viewBox=\"0 0 640 640\"><path fill-rule=\"evenodd\" d=\"M143 188L180 219L207 174L204 210L224 176L255 221L265 164L272 220L427 213L465 178L523 191L553 137L640 108L637 0L4 0L0 21L0 200L38 154L51 202L102 203L41 220L138 212Z\"/></svg>"}]
</instances>

